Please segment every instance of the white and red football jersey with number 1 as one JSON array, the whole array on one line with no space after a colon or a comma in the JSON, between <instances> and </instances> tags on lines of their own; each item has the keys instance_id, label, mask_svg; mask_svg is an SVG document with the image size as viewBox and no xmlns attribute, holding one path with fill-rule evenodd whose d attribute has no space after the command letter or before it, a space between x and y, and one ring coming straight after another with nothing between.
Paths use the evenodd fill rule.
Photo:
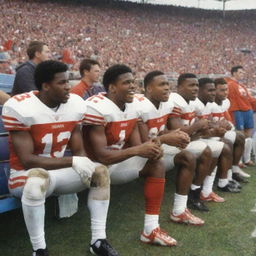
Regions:
<instances>
[{"instance_id":1,"label":"white and red football jersey with number 1","mask_svg":"<svg viewBox=\"0 0 256 256\"><path fill-rule=\"evenodd\" d=\"M125 104L125 110L122 111L103 93L94 95L85 102L87 110L84 124L104 126L108 147L121 149L138 121L135 105Z\"/></svg>"}]
</instances>

